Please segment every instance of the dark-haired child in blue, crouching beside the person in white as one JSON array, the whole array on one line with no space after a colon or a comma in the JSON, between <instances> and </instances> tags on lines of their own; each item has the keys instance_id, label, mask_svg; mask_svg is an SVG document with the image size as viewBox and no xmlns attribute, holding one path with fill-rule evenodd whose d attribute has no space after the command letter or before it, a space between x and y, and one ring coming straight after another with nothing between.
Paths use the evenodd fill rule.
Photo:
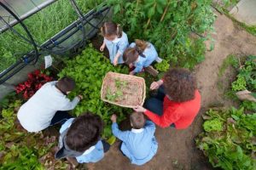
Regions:
<instances>
[{"instance_id":1,"label":"dark-haired child in blue, crouching beside the person in white","mask_svg":"<svg viewBox=\"0 0 256 170\"><path fill-rule=\"evenodd\" d=\"M55 158L66 157L73 165L78 164L77 162L100 161L104 156L104 149L109 149L109 144L101 140L102 127L101 117L89 113L68 119L61 126L59 150Z\"/></svg>"}]
</instances>

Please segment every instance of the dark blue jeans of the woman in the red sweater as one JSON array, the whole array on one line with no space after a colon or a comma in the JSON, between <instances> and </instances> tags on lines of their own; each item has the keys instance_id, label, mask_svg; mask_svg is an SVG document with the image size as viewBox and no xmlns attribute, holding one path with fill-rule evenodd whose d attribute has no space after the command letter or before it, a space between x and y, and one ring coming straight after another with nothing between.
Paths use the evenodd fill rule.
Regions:
<instances>
[{"instance_id":1,"label":"dark blue jeans of the woman in the red sweater","mask_svg":"<svg viewBox=\"0 0 256 170\"><path fill-rule=\"evenodd\" d=\"M165 89L163 86L160 86L156 95L154 95L149 99L146 99L144 107L148 111L152 111L154 114L157 114L158 116L162 116L164 111L165 96L166 96ZM175 127L174 123L172 123L170 126Z\"/></svg>"}]
</instances>

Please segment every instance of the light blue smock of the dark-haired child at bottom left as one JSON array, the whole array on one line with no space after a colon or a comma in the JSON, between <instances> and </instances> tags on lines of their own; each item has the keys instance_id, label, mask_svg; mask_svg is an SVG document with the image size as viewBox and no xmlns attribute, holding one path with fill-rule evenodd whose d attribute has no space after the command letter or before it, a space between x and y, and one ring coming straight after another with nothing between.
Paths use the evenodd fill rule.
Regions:
<instances>
[{"instance_id":1,"label":"light blue smock of the dark-haired child at bottom left","mask_svg":"<svg viewBox=\"0 0 256 170\"><path fill-rule=\"evenodd\" d=\"M68 119L60 129L60 133L69 128L73 122L74 118ZM102 140L99 140L96 145L91 146L88 150L84 151L82 156L77 156L76 159L79 163L89 163L100 161L104 157L104 150Z\"/></svg>"}]
</instances>

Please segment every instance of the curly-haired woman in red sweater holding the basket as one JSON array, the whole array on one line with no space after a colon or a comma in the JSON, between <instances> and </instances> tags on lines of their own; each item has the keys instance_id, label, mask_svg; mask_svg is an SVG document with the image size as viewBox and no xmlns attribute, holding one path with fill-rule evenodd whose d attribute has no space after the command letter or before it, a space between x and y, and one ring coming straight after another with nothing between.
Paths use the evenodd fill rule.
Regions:
<instances>
[{"instance_id":1,"label":"curly-haired woman in red sweater holding the basket","mask_svg":"<svg viewBox=\"0 0 256 170\"><path fill-rule=\"evenodd\" d=\"M143 112L160 127L189 127L201 108L201 95L190 71L171 69L150 89L158 89L158 94L146 100L145 108L137 105L135 111Z\"/></svg>"}]
</instances>

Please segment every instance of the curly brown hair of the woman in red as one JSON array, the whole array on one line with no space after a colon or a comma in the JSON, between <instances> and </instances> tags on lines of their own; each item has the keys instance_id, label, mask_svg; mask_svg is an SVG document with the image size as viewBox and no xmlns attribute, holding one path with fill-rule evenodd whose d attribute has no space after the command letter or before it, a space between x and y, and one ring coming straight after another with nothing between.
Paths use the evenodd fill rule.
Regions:
<instances>
[{"instance_id":1,"label":"curly brown hair of the woman in red","mask_svg":"<svg viewBox=\"0 0 256 170\"><path fill-rule=\"evenodd\" d=\"M195 99L196 80L192 73L183 68L174 68L166 72L164 87L173 101L184 102Z\"/></svg>"}]
</instances>

